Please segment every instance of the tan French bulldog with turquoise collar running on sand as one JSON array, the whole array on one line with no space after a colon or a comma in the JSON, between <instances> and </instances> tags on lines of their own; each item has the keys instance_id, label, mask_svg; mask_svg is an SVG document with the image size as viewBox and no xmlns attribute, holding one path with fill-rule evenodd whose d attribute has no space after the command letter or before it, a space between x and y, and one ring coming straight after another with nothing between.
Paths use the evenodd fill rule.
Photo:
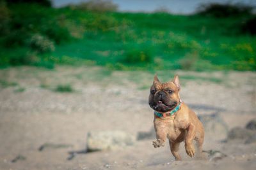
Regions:
<instances>
[{"instance_id":1,"label":"tan French bulldog with turquoise collar running on sand","mask_svg":"<svg viewBox=\"0 0 256 170\"><path fill-rule=\"evenodd\" d=\"M166 138L175 160L181 160L179 146L185 143L185 150L189 157L195 156L196 141L198 153L202 155L204 143L204 127L195 112L181 101L179 76L175 75L172 81L161 83L157 75L154 76L150 87L148 104L154 110L154 128L156 141L153 146L164 146Z\"/></svg>"}]
</instances>

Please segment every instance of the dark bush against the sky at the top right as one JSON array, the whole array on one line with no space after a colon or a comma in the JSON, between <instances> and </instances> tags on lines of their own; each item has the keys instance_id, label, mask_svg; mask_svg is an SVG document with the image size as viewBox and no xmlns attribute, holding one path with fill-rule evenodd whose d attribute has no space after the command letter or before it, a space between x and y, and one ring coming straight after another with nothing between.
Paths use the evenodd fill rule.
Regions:
<instances>
[{"instance_id":1,"label":"dark bush against the sky at the top right","mask_svg":"<svg viewBox=\"0 0 256 170\"><path fill-rule=\"evenodd\" d=\"M243 15L251 15L253 11L252 6L244 4L202 4L198 8L198 14L211 17L237 17Z\"/></svg>"}]
</instances>

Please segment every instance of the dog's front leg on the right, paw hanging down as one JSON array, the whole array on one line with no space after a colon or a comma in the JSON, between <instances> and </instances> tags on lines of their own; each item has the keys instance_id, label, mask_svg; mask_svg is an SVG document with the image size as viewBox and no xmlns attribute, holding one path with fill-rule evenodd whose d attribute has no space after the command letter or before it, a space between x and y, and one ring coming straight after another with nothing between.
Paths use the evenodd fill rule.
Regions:
<instances>
[{"instance_id":1,"label":"dog's front leg on the right, paw hanging down","mask_svg":"<svg viewBox=\"0 0 256 170\"><path fill-rule=\"evenodd\" d=\"M195 138L195 125L189 123L187 128L188 133L185 137L185 150L189 157L195 156L195 146L193 144L193 139Z\"/></svg>"}]
</instances>

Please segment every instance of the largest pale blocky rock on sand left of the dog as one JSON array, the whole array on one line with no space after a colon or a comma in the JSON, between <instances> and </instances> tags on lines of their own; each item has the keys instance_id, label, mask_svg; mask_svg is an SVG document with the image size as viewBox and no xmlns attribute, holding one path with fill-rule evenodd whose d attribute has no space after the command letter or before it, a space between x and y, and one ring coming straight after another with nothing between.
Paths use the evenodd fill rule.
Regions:
<instances>
[{"instance_id":1,"label":"largest pale blocky rock on sand left of the dog","mask_svg":"<svg viewBox=\"0 0 256 170\"><path fill-rule=\"evenodd\" d=\"M134 136L122 131L91 131L87 135L88 152L116 150L134 143Z\"/></svg>"}]
</instances>

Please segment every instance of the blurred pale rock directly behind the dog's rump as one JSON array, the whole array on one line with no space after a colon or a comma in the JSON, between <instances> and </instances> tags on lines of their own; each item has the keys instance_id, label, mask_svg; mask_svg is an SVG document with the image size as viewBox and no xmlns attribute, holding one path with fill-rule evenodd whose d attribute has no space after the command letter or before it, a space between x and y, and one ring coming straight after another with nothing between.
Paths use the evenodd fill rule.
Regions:
<instances>
[{"instance_id":1,"label":"blurred pale rock directly behind the dog's rump","mask_svg":"<svg viewBox=\"0 0 256 170\"><path fill-rule=\"evenodd\" d=\"M228 125L221 118L220 114L198 115L204 125L205 135L214 136L214 139L225 139L228 132Z\"/></svg>"}]
</instances>

